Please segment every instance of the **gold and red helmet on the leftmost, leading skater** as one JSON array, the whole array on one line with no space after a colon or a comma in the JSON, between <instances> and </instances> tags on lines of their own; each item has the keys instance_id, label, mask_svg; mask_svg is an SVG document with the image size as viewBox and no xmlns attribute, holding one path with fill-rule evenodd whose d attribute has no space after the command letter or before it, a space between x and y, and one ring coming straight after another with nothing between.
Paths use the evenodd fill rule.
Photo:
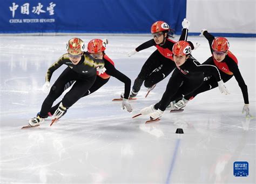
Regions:
<instances>
[{"instance_id":1,"label":"gold and red helmet on the leftmost, leading skater","mask_svg":"<svg viewBox=\"0 0 256 184\"><path fill-rule=\"evenodd\" d=\"M80 38L72 38L66 43L66 50L72 55L82 54L84 47L84 41Z\"/></svg>"}]
</instances>

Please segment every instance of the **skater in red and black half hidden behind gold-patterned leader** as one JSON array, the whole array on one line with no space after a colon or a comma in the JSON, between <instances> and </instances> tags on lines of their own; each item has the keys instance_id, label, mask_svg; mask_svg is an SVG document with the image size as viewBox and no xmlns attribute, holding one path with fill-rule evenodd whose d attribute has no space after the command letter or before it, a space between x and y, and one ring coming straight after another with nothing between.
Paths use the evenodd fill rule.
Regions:
<instances>
[{"instance_id":1,"label":"skater in red and black half hidden behind gold-patterned leader","mask_svg":"<svg viewBox=\"0 0 256 184\"><path fill-rule=\"evenodd\" d=\"M104 68L106 71L102 74L99 74L97 72L97 77L95 80L95 83L89 88L88 91L85 92L83 97L92 94L93 92L97 91L100 87L105 85L107 81L109 81L110 76L113 76L117 78L118 80L122 81L125 85L125 90L124 90L124 98L123 98L123 103L122 107L123 109L126 108L128 112L132 112L132 107L129 104L129 94L130 94L130 88L131 88L131 79L125 76L122 72L118 71L116 67L114 67L114 62L105 54L106 50L106 44L108 43L107 39L92 39L88 45L87 45L87 52L95 59L103 59L104 60ZM72 83L75 81L70 81L64 88L70 87ZM55 105L54 107L51 108L49 115L53 114L61 101ZM64 114L63 114L64 115Z\"/></svg>"}]
</instances>

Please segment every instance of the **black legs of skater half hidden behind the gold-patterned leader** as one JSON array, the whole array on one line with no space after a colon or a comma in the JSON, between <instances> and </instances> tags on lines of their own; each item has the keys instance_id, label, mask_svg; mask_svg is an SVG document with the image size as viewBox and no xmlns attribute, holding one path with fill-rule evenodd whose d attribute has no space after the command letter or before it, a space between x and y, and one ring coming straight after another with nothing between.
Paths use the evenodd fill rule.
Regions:
<instances>
[{"instance_id":1,"label":"black legs of skater half hidden behind the gold-patterned leader","mask_svg":"<svg viewBox=\"0 0 256 184\"><path fill-rule=\"evenodd\" d=\"M110 78L108 79L103 79L99 76L96 77L95 83L90 87L90 89L88 91L85 92L85 94L83 95L83 97L97 91L100 87L102 87L104 84L107 83L107 81L109 81ZM65 85L64 91L70 87L70 85L72 85L72 83L74 83L75 81L70 81L68 84ZM59 104L62 101L60 101L58 104L56 104L55 106L51 107L51 110L49 111L51 114L54 114L55 111L57 110L57 108L59 107Z\"/></svg>"}]
</instances>

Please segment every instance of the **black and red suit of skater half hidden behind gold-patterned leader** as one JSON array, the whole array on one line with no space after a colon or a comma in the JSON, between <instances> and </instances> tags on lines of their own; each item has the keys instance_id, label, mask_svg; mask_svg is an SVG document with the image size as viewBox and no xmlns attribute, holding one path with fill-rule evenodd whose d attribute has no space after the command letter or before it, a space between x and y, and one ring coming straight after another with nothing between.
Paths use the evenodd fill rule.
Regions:
<instances>
[{"instance_id":1,"label":"black and red suit of skater half hidden behind gold-patterned leader","mask_svg":"<svg viewBox=\"0 0 256 184\"><path fill-rule=\"evenodd\" d=\"M104 54L103 60L105 63L104 67L105 67L106 71L100 75L97 72L97 77L96 77L95 83L89 88L88 91L85 92L83 97L97 91L100 87L102 87L104 84L106 84L107 81L109 81L110 76L112 76L124 83L124 88L125 88L124 98L128 99L129 94L130 94L130 89L131 89L131 79L129 77L125 76L125 74L123 74L122 72L118 71L116 69L116 67L114 67L114 62L106 54ZM64 91L67 88L69 88L73 84L73 82L75 82L75 81L70 81L68 84L66 84ZM51 114L53 114L57 110L60 102L51 108L51 110L50 110Z\"/></svg>"}]
</instances>

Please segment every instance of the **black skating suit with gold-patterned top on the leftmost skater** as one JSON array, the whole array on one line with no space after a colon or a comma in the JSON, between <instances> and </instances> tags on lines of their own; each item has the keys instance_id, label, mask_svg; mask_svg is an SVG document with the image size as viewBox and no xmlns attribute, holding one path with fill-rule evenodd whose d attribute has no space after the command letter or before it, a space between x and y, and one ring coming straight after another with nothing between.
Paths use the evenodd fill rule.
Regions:
<instances>
[{"instance_id":1,"label":"black skating suit with gold-patterned top on the leftmost skater","mask_svg":"<svg viewBox=\"0 0 256 184\"><path fill-rule=\"evenodd\" d=\"M53 102L63 93L66 83L75 80L76 83L71 90L65 94L62 99L64 107L70 107L76 101L83 97L86 91L93 85L96 80L96 68L104 67L104 60L94 59L88 53L84 52L77 65L72 64L68 53L63 54L57 62L51 65L46 72L46 81L50 81L52 73L62 65L68 65L60 74L58 79L52 85L48 96L45 98L40 111L40 117L48 117Z\"/></svg>"}]
</instances>

